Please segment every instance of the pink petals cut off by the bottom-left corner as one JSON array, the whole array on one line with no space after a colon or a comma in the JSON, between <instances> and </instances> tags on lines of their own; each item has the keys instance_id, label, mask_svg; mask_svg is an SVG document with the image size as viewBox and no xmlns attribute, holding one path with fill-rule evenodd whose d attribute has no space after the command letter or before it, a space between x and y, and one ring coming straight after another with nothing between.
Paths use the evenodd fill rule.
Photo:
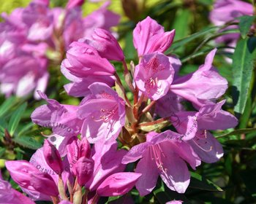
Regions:
<instances>
[{"instance_id":1,"label":"pink petals cut off by the bottom-left corner","mask_svg":"<svg viewBox=\"0 0 256 204\"><path fill-rule=\"evenodd\" d=\"M12 189L11 184L7 181L4 181L1 178L0 172L0 203L6 204L16 204L16 203L28 203L28 204L35 204L29 197L26 197L22 193Z\"/></svg>"}]
</instances>

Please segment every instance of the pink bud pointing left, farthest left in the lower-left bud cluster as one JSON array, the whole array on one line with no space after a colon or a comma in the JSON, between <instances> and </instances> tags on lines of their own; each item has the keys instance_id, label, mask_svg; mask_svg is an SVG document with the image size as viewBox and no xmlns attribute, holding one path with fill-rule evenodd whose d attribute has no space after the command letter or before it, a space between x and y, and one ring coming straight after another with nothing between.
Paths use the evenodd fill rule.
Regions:
<instances>
[{"instance_id":1,"label":"pink bud pointing left, farthest left in the lower-left bud cluster","mask_svg":"<svg viewBox=\"0 0 256 204\"><path fill-rule=\"evenodd\" d=\"M12 179L25 189L41 192L45 195L58 196L59 191L53 178L48 173L40 172L25 160L5 162Z\"/></svg>"}]
</instances>

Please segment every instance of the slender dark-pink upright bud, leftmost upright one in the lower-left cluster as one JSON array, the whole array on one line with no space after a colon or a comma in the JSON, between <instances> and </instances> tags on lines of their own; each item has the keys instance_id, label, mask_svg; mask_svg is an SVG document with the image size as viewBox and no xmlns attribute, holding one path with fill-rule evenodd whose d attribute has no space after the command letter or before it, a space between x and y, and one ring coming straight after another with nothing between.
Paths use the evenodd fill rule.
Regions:
<instances>
[{"instance_id":1,"label":"slender dark-pink upright bud, leftmost upright one in the lower-left cluster","mask_svg":"<svg viewBox=\"0 0 256 204\"><path fill-rule=\"evenodd\" d=\"M53 144L50 144L48 140L45 140L43 153L45 161L48 163L50 168L52 168L56 173L61 174L63 171L61 155L56 147Z\"/></svg>"}]
</instances>

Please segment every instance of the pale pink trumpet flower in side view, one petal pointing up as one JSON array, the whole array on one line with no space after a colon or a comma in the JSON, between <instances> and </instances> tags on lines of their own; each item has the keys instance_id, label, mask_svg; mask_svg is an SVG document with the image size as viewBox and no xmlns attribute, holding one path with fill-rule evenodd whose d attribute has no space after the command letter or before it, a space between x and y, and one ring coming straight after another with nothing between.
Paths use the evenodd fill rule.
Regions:
<instances>
[{"instance_id":1,"label":"pale pink trumpet flower in side view, one petal pointing up","mask_svg":"<svg viewBox=\"0 0 256 204\"><path fill-rule=\"evenodd\" d=\"M227 79L212 66L216 51L214 49L206 56L205 63L197 71L174 79L170 91L191 101L196 107L222 96L227 90Z\"/></svg>"}]
</instances>

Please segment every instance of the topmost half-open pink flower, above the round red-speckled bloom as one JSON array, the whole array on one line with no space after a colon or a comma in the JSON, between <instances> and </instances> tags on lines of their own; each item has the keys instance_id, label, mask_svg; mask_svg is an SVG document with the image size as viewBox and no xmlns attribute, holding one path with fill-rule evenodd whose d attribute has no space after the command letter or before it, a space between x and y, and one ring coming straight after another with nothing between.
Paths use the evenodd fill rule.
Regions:
<instances>
[{"instance_id":1,"label":"topmost half-open pink flower, above the round red-speckled bloom","mask_svg":"<svg viewBox=\"0 0 256 204\"><path fill-rule=\"evenodd\" d=\"M165 32L156 20L146 17L133 31L133 44L139 57L152 52L165 52L173 43L175 30Z\"/></svg>"}]
</instances>

